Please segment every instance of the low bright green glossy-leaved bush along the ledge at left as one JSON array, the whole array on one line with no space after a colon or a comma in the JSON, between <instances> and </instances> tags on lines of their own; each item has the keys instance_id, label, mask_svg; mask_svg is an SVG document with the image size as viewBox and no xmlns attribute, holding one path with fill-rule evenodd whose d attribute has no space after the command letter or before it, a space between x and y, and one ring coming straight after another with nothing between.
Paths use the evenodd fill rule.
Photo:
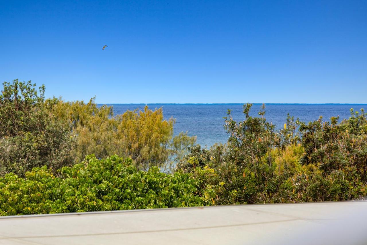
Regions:
<instances>
[{"instance_id":1,"label":"low bright green glossy-leaved bush along the ledge at left","mask_svg":"<svg viewBox=\"0 0 367 245\"><path fill-rule=\"evenodd\" d=\"M203 205L188 174L139 171L130 158L88 156L55 177L45 167L0 178L0 215L151 209Z\"/></svg>"}]
</instances>

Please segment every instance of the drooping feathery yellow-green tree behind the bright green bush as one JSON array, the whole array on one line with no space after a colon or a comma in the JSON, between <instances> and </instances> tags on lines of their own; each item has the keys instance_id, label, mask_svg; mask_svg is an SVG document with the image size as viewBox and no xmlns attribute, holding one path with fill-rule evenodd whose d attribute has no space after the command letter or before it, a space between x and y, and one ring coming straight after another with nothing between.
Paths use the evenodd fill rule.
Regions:
<instances>
[{"instance_id":1,"label":"drooping feathery yellow-green tree behind the bright green bush","mask_svg":"<svg viewBox=\"0 0 367 245\"><path fill-rule=\"evenodd\" d=\"M161 108L153 111L146 106L143 111L114 116L111 106L98 107L94 98L88 103L54 98L48 103L55 120L63 121L77 136L76 162L90 154L98 159L116 154L131 157L141 169L167 169L196 140L183 132L173 137L174 120L164 120Z\"/></svg>"}]
</instances>

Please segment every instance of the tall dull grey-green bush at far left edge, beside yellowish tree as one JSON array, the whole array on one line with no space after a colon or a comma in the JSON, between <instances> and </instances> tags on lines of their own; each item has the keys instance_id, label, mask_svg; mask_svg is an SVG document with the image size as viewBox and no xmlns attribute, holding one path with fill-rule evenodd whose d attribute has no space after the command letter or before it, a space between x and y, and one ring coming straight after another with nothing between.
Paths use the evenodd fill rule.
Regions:
<instances>
[{"instance_id":1,"label":"tall dull grey-green bush at far left edge, beside yellowish tree","mask_svg":"<svg viewBox=\"0 0 367 245\"><path fill-rule=\"evenodd\" d=\"M0 95L0 175L24 176L33 167L54 170L73 163L74 138L55 122L44 103L44 86L4 82Z\"/></svg>"}]
</instances>

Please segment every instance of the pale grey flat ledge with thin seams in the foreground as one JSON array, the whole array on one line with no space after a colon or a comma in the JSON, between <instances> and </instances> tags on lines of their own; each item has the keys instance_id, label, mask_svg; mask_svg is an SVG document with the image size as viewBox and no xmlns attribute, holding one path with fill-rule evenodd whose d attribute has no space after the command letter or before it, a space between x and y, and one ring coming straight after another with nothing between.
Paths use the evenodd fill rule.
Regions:
<instances>
[{"instance_id":1,"label":"pale grey flat ledge with thin seams in the foreground","mask_svg":"<svg viewBox=\"0 0 367 245\"><path fill-rule=\"evenodd\" d=\"M0 217L0 244L367 244L367 202Z\"/></svg>"}]
</instances>

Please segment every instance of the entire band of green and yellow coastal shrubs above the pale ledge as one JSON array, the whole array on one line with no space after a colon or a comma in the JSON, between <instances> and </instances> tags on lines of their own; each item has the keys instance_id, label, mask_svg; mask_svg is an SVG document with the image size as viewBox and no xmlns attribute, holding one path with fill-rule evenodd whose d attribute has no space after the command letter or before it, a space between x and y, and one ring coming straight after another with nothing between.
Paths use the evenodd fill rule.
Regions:
<instances>
[{"instance_id":1,"label":"entire band of green and yellow coastal shrubs above the pale ledge","mask_svg":"<svg viewBox=\"0 0 367 245\"><path fill-rule=\"evenodd\" d=\"M265 106L230 110L225 145L195 145L162 109L44 98L31 82L0 95L0 215L357 200L367 196L367 120L301 122L280 130Z\"/></svg>"}]
</instances>

